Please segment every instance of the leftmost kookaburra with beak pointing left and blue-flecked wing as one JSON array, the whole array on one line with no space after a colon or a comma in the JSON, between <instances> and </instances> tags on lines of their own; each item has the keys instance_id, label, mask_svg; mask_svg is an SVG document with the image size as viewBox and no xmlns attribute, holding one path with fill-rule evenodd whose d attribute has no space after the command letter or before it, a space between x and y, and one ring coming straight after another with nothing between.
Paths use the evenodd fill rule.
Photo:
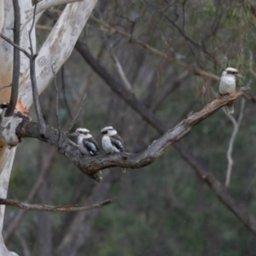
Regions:
<instances>
[{"instance_id":1,"label":"leftmost kookaburra with beak pointing left and blue-flecked wing","mask_svg":"<svg viewBox=\"0 0 256 256\"><path fill-rule=\"evenodd\" d=\"M90 131L85 128L78 128L70 136L78 137L79 148L83 154L95 156L99 154L99 146L96 140L91 136Z\"/></svg>"}]
</instances>

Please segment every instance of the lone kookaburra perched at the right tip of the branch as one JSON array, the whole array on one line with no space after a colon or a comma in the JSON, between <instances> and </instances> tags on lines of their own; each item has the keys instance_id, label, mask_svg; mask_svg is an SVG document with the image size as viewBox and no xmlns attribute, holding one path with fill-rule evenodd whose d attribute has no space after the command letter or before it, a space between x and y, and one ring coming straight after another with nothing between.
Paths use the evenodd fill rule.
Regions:
<instances>
[{"instance_id":1,"label":"lone kookaburra perched at the right tip of the branch","mask_svg":"<svg viewBox=\"0 0 256 256\"><path fill-rule=\"evenodd\" d=\"M242 78L238 70L233 67L227 67L221 75L218 91L221 96L230 94L236 90L236 78ZM225 106L227 113L234 113L234 102L230 102Z\"/></svg>"}]
</instances>

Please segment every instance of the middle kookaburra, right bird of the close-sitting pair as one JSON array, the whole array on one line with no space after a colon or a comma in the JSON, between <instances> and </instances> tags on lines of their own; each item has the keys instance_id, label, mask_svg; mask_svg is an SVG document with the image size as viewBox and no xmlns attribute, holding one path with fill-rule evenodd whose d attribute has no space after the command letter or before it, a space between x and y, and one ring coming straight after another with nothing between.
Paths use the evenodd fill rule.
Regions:
<instances>
[{"instance_id":1,"label":"middle kookaburra, right bird of the close-sitting pair","mask_svg":"<svg viewBox=\"0 0 256 256\"><path fill-rule=\"evenodd\" d=\"M113 154L125 151L123 139L119 137L117 131L112 126L102 128L102 148L106 153ZM122 172L126 172L122 168Z\"/></svg>"}]
</instances>

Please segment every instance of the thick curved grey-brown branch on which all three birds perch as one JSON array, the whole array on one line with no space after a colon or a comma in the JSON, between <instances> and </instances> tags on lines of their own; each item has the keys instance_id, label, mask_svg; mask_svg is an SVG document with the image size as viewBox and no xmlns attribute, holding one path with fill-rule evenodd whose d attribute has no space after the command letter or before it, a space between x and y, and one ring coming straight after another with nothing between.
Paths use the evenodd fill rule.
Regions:
<instances>
[{"instance_id":1,"label":"thick curved grey-brown branch on which all three birds perch","mask_svg":"<svg viewBox=\"0 0 256 256\"><path fill-rule=\"evenodd\" d=\"M18 125L16 135L22 137L34 137L45 143L49 143L64 154L69 160L73 161L85 174L92 176L96 172L113 166L121 166L131 169L148 166L157 160L161 154L164 154L172 144L177 143L182 137L186 136L192 128L199 124L202 120L207 119L212 113L219 108L224 107L229 102L235 101L241 96L247 88L242 87L239 90L227 96L220 96L208 103L206 107L200 111L190 114L189 117L183 119L177 126L156 140L143 153L119 153L119 154L101 154L95 157L84 156L77 144L70 141L67 137L61 137L59 143L59 131L55 128L46 127L45 137L41 137L38 132L38 124L24 120Z\"/></svg>"}]
</instances>

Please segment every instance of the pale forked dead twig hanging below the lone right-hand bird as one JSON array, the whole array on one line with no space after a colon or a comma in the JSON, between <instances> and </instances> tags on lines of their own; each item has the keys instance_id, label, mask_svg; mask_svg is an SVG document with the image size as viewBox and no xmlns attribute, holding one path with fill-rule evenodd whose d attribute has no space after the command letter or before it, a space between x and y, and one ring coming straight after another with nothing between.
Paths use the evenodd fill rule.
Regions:
<instances>
[{"instance_id":1,"label":"pale forked dead twig hanging below the lone right-hand bird","mask_svg":"<svg viewBox=\"0 0 256 256\"><path fill-rule=\"evenodd\" d=\"M230 178L231 178L232 167L233 167L233 163L234 163L234 161L232 159L232 152L233 152L233 148L234 148L234 142L235 142L235 139L236 139L236 134L239 130L239 127L241 125L241 120L243 118L244 105L245 105L245 99L241 98L241 108L240 108L240 113L239 113L239 117L238 117L237 121L233 116L226 113L226 115L228 116L228 118L231 120L231 122L234 125L234 130L233 130L232 135L230 137L230 144L229 144L229 148L228 148L228 151L227 151L228 167L227 167L227 174L226 174L226 181L225 181L225 186L226 187L230 186ZM224 111L224 113L225 113L225 111Z\"/></svg>"}]
</instances>

